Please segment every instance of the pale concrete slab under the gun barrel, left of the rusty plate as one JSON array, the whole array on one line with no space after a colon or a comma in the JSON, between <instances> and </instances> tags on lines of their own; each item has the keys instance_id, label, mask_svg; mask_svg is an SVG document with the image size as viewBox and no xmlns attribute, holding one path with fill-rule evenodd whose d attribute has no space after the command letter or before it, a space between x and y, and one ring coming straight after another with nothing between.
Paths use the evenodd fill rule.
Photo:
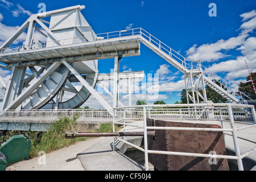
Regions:
<instances>
[{"instance_id":1,"label":"pale concrete slab under the gun barrel, left of the rusty plate","mask_svg":"<svg viewBox=\"0 0 256 182\"><path fill-rule=\"evenodd\" d=\"M139 142L137 137L134 139L134 142L129 142ZM126 151L126 146L124 146L126 144L123 142L116 142L115 144L118 151L113 151L113 137L106 137L82 151L77 155L77 158L86 171L144 171L141 164L122 154Z\"/></svg>"}]
</instances>

